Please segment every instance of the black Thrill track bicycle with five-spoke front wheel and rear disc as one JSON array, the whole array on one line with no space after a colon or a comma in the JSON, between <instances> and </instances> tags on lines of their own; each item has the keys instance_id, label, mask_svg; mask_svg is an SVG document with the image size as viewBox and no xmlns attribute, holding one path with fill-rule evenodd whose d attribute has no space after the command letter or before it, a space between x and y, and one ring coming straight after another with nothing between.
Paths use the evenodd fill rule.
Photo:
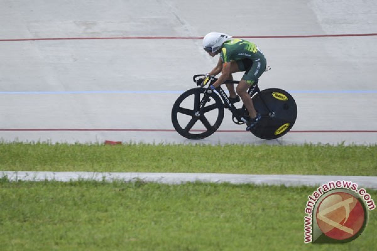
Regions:
<instances>
[{"instance_id":1,"label":"black Thrill track bicycle with five-spoke front wheel and rear disc","mask_svg":"<svg viewBox=\"0 0 377 251\"><path fill-rule=\"evenodd\" d=\"M193 76L193 81L199 85L185 91L178 97L172 108L172 123L175 130L185 138L199 140L216 132L224 118L224 105L232 113L232 120L237 125L248 123L248 111L245 105L236 108L229 101L229 96L220 87L216 91L205 88L204 85L215 83L215 76L207 76L201 84ZM239 81L225 81L224 84L238 84ZM279 88L259 90L258 81L248 89L255 110L262 115L257 126L251 133L258 138L272 140L282 137L293 127L297 117L297 106L293 97Z\"/></svg>"}]
</instances>

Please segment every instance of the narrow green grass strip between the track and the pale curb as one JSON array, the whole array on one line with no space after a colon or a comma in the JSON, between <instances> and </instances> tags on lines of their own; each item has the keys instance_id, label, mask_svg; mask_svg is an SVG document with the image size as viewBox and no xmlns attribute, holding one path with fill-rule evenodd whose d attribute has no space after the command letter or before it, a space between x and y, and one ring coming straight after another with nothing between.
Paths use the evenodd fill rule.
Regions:
<instances>
[{"instance_id":1,"label":"narrow green grass strip between the track and the pale curb","mask_svg":"<svg viewBox=\"0 0 377 251\"><path fill-rule=\"evenodd\" d=\"M0 143L0 170L377 176L377 146Z\"/></svg>"}]
</instances>

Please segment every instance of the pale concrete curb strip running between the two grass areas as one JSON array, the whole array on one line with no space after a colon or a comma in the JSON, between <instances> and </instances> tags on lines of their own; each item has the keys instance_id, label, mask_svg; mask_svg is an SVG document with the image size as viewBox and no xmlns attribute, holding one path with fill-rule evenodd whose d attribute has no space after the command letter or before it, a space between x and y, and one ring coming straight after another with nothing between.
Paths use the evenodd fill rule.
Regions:
<instances>
[{"instance_id":1,"label":"pale concrete curb strip running between the two grass areas","mask_svg":"<svg viewBox=\"0 0 377 251\"><path fill-rule=\"evenodd\" d=\"M318 186L329 181L352 181L359 187L377 190L375 176L333 176L333 175L248 175L225 173L139 173L139 172L22 172L0 171L0 178L10 181L115 181L142 180L162 184L181 184L187 182L266 184L285 186Z\"/></svg>"}]
</instances>

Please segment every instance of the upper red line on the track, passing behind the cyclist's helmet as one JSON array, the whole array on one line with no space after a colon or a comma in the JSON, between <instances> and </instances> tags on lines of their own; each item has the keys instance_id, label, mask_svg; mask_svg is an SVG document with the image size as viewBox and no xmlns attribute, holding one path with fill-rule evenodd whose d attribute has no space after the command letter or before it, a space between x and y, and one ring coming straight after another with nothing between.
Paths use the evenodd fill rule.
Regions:
<instances>
[{"instance_id":1,"label":"upper red line on the track, passing behind the cyclist's helmet","mask_svg":"<svg viewBox=\"0 0 377 251\"><path fill-rule=\"evenodd\" d=\"M323 37L366 37L377 33L363 34L328 34L328 35L285 35L285 36L234 36L234 38L323 38ZM202 39L203 37L76 37L76 38L16 38L0 39L0 42L49 41L49 40L105 40L105 39Z\"/></svg>"}]
</instances>

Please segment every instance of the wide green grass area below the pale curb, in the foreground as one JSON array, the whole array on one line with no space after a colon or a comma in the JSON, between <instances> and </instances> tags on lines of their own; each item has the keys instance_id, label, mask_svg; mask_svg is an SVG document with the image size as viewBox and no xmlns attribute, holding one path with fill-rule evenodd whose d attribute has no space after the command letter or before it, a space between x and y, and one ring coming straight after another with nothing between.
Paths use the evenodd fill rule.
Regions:
<instances>
[{"instance_id":1,"label":"wide green grass area below the pale curb, in the foreground","mask_svg":"<svg viewBox=\"0 0 377 251\"><path fill-rule=\"evenodd\" d=\"M343 245L303 243L315 187L0 180L1 250L371 250L377 218ZM377 198L377 191L368 191Z\"/></svg>"}]
</instances>

